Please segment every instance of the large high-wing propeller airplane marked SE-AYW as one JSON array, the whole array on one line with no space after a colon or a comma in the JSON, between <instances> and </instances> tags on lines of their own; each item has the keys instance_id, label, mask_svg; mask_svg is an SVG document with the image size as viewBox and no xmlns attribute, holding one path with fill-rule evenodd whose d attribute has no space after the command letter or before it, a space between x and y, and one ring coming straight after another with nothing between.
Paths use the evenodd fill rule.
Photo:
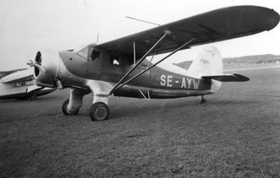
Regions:
<instances>
[{"instance_id":1,"label":"large high-wing propeller airplane marked SE-AYW","mask_svg":"<svg viewBox=\"0 0 280 178\"><path fill-rule=\"evenodd\" d=\"M269 31L279 23L279 14L260 6L231 6L154 27L105 43L91 43L74 50L39 50L34 60L34 78L39 86L71 88L62 104L65 115L76 115L83 96L93 93L89 115L92 121L109 118L109 97L167 99L216 93L222 82L248 81L240 74L223 74L217 48L209 46L188 70L160 64L179 50ZM166 54L158 62L155 55ZM146 57L152 57L150 61Z\"/></svg>"}]
</instances>

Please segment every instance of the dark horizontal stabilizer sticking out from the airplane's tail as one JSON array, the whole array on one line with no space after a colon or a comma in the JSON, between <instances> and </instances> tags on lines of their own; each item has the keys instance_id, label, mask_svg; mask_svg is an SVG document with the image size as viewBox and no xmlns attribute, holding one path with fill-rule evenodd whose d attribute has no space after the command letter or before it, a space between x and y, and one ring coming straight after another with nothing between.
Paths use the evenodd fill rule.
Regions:
<instances>
[{"instance_id":1,"label":"dark horizontal stabilizer sticking out from the airplane's tail","mask_svg":"<svg viewBox=\"0 0 280 178\"><path fill-rule=\"evenodd\" d=\"M240 74L224 74L220 76L202 76L205 79L214 79L216 81L249 81L250 79Z\"/></svg>"}]
</instances>

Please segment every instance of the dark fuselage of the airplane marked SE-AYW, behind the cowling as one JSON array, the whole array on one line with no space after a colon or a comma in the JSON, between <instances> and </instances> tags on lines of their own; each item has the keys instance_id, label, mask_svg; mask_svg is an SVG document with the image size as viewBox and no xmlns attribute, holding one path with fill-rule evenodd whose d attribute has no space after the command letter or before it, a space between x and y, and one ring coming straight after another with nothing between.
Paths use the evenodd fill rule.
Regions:
<instances>
[{"instance_id":1,"label":"dark fuselage of the airplane marked SE-AYW, behind the cowling","mask_svg":"<svg viewBox=\"0 0 280 178\"><path fill-rule=\"evenodd\" d=\"M99 60L88 60L72 51L60 51L59 80L63 85L88 88L88 81L99 81L116 85L118 81L129 71L133 64L113 64L113 57L109 53L102 52ZM114 56L114 55L113 55ZM115 55L116 56L116 55ZM63 66L63 67L62 67ZM132 76L151 66L148 60L135 69ZM215 93L211 90L211 81L203 80L188 74L187 70L172 64L165 69L164 65L153 67L144 72L134 81L114 92L115 96L137 98L175 98Z\"/></svg>"}]
</instances>

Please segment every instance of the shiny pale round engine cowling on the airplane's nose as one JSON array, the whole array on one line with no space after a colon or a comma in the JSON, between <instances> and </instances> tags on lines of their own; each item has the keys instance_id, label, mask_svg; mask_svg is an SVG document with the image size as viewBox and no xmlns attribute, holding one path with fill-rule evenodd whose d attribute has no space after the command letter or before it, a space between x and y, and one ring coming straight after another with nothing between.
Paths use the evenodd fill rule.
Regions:
<instances>
[{"instance_id":1,"label":"shiny pale round engine cowling on the airplane's nose","mask_svg":"<svg viewBox=\"0 0 280 178\"><path fill-rule=\"evenodd\" d=\"M34 78L36 85L57 88L59 53L55 50L39 50L34 60Z\"/></svg>"}]
</instances>

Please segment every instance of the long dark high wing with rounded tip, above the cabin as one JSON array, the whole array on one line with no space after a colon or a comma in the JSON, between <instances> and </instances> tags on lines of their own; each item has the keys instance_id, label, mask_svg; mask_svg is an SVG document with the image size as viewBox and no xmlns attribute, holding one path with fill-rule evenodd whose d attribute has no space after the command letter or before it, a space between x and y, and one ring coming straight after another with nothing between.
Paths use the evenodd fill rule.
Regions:
<instances>
[{"instance_id":1,"label":"long dark high wing with rounded tip, above the cabin","mask_svg":"<svg viewBox=\"0 0 280 178\"><path fill-rule=\"evenodd\" d=\"M148 29L144 32L125 36L120 39L97 45L116 54L134 54L134 43L137 57L141 57L164 35L167 37L150 53L161 54L173 51L191 39L188 46L202 45L248 36L269 31L279 23L279 14L269 8L259 6L232 6L190 18Z\"/></svg>"}]
</instances>

